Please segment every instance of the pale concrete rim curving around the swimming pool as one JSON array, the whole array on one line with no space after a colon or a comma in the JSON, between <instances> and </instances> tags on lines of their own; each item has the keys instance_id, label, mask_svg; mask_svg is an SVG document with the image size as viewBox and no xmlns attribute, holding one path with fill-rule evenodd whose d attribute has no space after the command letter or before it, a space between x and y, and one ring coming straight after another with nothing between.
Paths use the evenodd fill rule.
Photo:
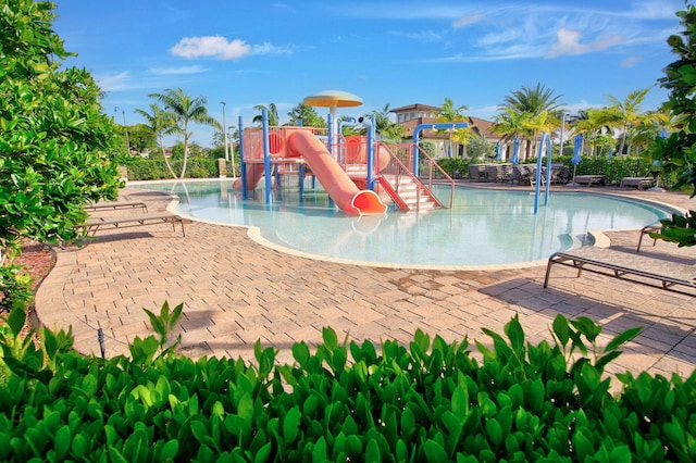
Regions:
<instances>
[{"instance_id":1,"label":"pale concrete rim curving around the swimming pool","mask_svg":"<svg viewBox=\"0 0 696 463\"><path fill-rule=\"evenodd\" d=\"M191 178L191 179L164 179L164 180L136 180L136 182L128 182L126 184L126 187L130 186L135 186L136 189L145 189L145 188L137 188L138 185L148 185L148 184L176 184L176 183L204 183L204 182L231 182L234 180L234 178L231 177L222 177L222 178ZM460 188L471 188L471 189L482 189L482 190L506 190L506 188L502 187L487 187L487 188L481 188L478 186L475 185L462 185L462 184L457 184L457 187ZM373 262L373 261L357 261L357 260L350 260L350 259L340 259L340 258L332 258L332 256L326 256L326 255L321 255L321 254L313 254L311 252L307 252L307 251L300 251L294 248L288 248L282 245L278 245L276 242L273 242L266 238L264 238L261 234L261 229L257 226L253 225L238 225L238 224L223 224L220 222L214 222L214 221L208 221L208 220L203 220L203 218L199 218L199 217L194 217L190 215L187 215L181 211L177 211L176 208L179 204L179 199L178 197L176 197L174 193L169 193L165 191L159 191L159 190L148 190L148 191L152 191L152 192L158 192L164 196L167 196L171 198L171 202L167 204L166 210L173 213L176 213L178 215L181 215L182 217L184 217L185 220L191 221L191 222L199 222L199 223L206 223L206 224L210 224L210 225L216 225L216 226L224 226L224 227L233 227L233 228L246 228L247 229L247 237L249 237L249 239L251 239L252 241L257 242L260 246L263 246L265 248L269 249L273 249L277 252L282 252L288 255L294 255L294 256L298 256L298 258L303 258L303 259L309 259L309 260L314 260L314 261L322 261L322 262L330 262L330 263L337 263L337 264L346 264L346 265L356 265L356 266L368 266L368 267L381 267L381 268L395 268L395 270L423 270L423 271L470 271L470 272L495 272L495 271L505 271L505 270L522 270L522 268L529 268L529 267L536 267L536 266L544 266L547 264L548 259L543 259L543 260L537 260L537 261L525 261L525 262L514 262L514 263L507 263L507 264L485 264L485 265L437 265L437 264L405 264L405 263L391 263L391 262ZM557 192L557 193L574 193L574 192L588 192L592 195L599 195L599 196L605 196L605 197L609 197L609 198L621 198L625 201L631 201L631 202L638 202L638 203L647 203L649 205L652 205L655 208L658 209L662 209L666 212L667 211L674 211L674 212L680 212L680 213L685 213L687 212L687 210L676 207L674 204L670 204L670 203L666 203L666 202L660 202L657 200L652 200L652 199L645 199L645 198L634 198L632 196L627 196L623 192L608 192L608 191L596 191L596 190L585 190L584 188L573 188L571 190L556 190L552 192ZM587 234L593 238L594 242L592 245L588 246L594 246L597 248L609 248L611 246L611 239L606 235L607 233L612 233L612 232L638 232L639 228L623 228L623 229L594 229L594 230L587 230ZM574 249L579 246L582 246L582 243L580 243L580 241L576 239L576 237L571 236L571 240L573 241L573 245L569 248L569 249Z\"/></svg>"}]
</instances>

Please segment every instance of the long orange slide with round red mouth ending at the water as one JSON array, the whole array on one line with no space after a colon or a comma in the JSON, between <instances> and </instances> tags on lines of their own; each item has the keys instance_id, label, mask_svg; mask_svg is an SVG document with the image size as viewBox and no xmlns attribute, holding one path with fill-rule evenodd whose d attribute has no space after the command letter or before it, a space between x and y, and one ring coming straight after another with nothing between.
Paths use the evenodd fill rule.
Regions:
<instances>
[{"instance_id":1,"label":"long orange slide with round red mouth ending at the water","mask_svg":"<svg viewBox=\"0 0 696 463\"><path fill-rule=\"evenodd\" d=\"M360 190L328 153L324 143L306 130L290 134L287 148L291 155L302 157L336 205L353 214L384 214L386 204L371 190Z\"/></svg>"}]
</instances>

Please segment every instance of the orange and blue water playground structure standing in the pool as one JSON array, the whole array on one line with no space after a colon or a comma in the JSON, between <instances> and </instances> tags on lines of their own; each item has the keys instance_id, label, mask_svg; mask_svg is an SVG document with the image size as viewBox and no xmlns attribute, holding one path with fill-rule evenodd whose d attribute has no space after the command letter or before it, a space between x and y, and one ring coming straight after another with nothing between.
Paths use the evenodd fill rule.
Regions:
<instances>
[{"instance_id":1,"label":"orange and blue water playground structure standing in the pool","mask_svg":"<svg viewBox=\"0 0 696 463\"><path fill-rule=\"evenodd\" d=\"M340 127L346 124L364 124L366 137L344 137ZM261 128L240 130L241 176L235 189L247 199L248 192L264 180L265 202L271 203L282 177L296 176L299 193L303 195L304 178L312 176L349 214L384 214L389 203L401 211L451 207L455 182L418 146L418 135L413 143L376 142L372 121L363 117L340 121L337 128L334 130L332 114L328 129L270 127L264 111ZM444 203L432 192L436 172L451 187L449 202Z\"/></svg>"}]
</instances>

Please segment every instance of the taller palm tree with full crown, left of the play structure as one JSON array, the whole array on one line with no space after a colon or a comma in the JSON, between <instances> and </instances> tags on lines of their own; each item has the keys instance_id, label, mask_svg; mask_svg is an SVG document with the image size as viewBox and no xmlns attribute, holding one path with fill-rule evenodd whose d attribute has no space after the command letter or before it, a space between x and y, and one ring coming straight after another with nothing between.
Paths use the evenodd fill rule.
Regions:
<instances>
[{"instance_id":1,"label":"taller palm tree with full crown, left of the play structure","mask_svg":"<svg viewBox=\"0 0 696 463\"><path fill-rule=\"evenodd\" d=\"M215 118L208 115L206 109L206 97L191 98L184 93L184 90L177 88L173 90L167 88L163 93L150 93L149 97L158 99L164 104L164 108L172 113L172 117L176 123L176 129L173 133L184 135L184 165L182 166L182 175L179 178L184 178L186 174L186 162L188 161L188 141L190 140L192 132L188 132L188 126L191 123L204 124L223 129L221 124Z\"/></svg>"}]
</instances>

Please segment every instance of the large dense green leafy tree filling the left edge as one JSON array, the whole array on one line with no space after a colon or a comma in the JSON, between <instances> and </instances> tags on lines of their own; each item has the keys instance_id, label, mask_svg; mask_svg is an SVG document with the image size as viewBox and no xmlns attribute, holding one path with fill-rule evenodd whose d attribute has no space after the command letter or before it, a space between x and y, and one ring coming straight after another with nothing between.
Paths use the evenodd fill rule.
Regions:
<instances>
[{"instance_id":1,"label":"large dense green leafy tree filling the left edge","mask_svg":"<svg viewBox=\"0 0 696 463\"><path fill-rule=\"evenodd\" d=\"M0 15L0 249L77 236L84 205L114 199L121 142L91 75L51 28L54 5L3 2ZM0 259L1 260L1 259Z\"/></svg>"}]
</instances>

